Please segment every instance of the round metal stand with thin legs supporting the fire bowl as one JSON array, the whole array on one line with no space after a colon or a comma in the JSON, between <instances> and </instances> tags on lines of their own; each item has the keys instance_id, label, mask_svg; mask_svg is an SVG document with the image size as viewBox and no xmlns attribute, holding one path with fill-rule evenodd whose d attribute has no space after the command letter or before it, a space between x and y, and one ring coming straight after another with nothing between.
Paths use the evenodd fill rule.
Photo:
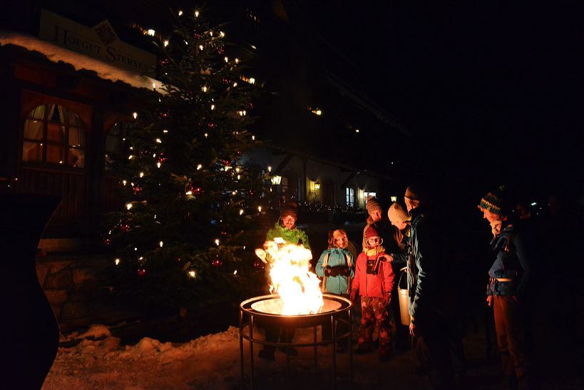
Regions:
<instances>
[{"instance_id":1,"label":"round metal stand with thin legs supporting the fire bowl","mask_svg":"<svg viewBox=\"0 0 584 390\"><path fill-rule=\"evenodd\" d=\"M348 339L348 355L349 355L349 389L353 386L353 349L352 349L352 322L353 322L353 304L347 298L340 297L339 295L333 294L323 294L323 299L326 302L329 301L336 302L337 309L329 310L327 312L322 312L318 314L302 314L302 315L281 315L272 314L267 312L260 312L257 309L252 308L253 304L257 302L266 301L268 299L280 299L277 295L262 295L261 297L254 297L247 299L240 304L240 357L241 357L241 389L247 387L248 389L254 388L254 344L260 344L261 346L271 345L273 347L294 347L294 348L304 348L312 347L313 356L310 358L306 357L293 357L291 358L289 354L286 355L286 374L290 377L290 359L314 359L314 374L318 371L318 355L317 347L319 345L331 345L332 346L332 383L333 389L337 388L337 349L335 344L337 341L342 339ZM264 302L265 303L265 302ZM317 339L317 327L325 323L331 324L332 328L332 339L322 340L322 338ZM347 332L342 334L337 334L336 324L338 322L344 322L347 324ZM267 342L264 339L258 339L258 335L254 334L254 326L259 325L260 327L278 327L278 328L308 328L312 327L314 329L314 337L312 342L306 343L286 343L286 342ZM250 342L250 373L245 375L245 363L244 363L244 353L243 353L243 339Z\"/></svg>"}]
</instances>

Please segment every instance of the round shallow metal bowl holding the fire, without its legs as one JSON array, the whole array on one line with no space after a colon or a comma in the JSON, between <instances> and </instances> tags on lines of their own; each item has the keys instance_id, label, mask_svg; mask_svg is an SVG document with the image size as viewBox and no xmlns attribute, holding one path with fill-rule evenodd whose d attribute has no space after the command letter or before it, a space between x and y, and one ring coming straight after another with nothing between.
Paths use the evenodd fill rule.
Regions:
<instances>
[{"instance_id":1,"label":"round shallow metal bowl holding the fire, without its legs","mask_svg":"<svg viewBox=\"0 0 584 390\"><path fill-rule=\"evenodd\" d=\"M352 308L351 301L332 294L322 294L323 306L313 314L279 314L282 299L277 295L262 295L247 299L240 304L240 310L252 315L264 325L275 327L313 327L329 322L331 317L342 316Z\"/></svg>"}]
</instances>

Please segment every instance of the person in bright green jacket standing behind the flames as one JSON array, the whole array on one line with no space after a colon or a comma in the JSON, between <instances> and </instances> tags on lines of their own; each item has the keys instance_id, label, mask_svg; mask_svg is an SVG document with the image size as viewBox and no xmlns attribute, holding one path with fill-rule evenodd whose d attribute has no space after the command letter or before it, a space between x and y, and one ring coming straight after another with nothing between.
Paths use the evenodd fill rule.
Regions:
<instances>
[{"instance_id":1,"label":"person in bright green jacket standing behind the flames","mask_svg":"<svg viewBox=\"0 0 584 390\"><path fill-rule=\"evenodd\" d=\"M308 235L304 230L300 230L296 226L297 219L297 205L294 202L286 203L282 206L282 212L280 212L280 218L276 221L274 227L267 231L266 241L274 241L276 237L280 237L287 244L302 245L307 250L310 250L310 245L308 242ZM292 343L294 338L294 328L277 328L277 327L266 327L266 341L267 342L286 342L288 344ZM290 356L297 356L298 351L293 347L280 347L285 354ZM275 347L271 345L266 345L257 356L262 359L274 360Z\"/></svg>"}]
</instances>

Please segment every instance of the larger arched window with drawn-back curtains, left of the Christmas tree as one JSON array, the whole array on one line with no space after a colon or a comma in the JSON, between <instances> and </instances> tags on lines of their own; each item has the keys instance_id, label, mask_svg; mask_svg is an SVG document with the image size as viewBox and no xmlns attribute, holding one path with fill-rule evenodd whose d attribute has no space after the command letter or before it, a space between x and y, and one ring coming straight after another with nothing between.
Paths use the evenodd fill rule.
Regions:
<instances>
[{"instance_id":1,"label":"larger arched window with drawn-back curtains, left of the Christmas tree","mask_svg":"<svg viewBox=\"0 0 584 390\"><path fill-rule=\"evenodd\" d=\"M85 128L66 107L43 104L24 121L22 160L72 168L85 166Z\"/></svg>"}]
</instances>

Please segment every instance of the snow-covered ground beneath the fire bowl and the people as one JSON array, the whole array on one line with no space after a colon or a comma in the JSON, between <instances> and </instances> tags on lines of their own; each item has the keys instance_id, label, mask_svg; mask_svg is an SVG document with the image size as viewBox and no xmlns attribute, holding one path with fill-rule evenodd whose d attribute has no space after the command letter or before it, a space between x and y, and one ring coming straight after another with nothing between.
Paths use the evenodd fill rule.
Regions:
<instances>
[{"instance_id":1,"label":"snow-covered ground beneath the fire bowl and the people","mask_svg":"<svg viewBox=\"0 0 584 390\"><path fill-rule=\"evenodd\" d=\"M463 344L468 363L467 375L460 389L499 389L501 369L496 346L486 356L486 333L477 310L469 322ZM357 322L357 318L354 319ZM357 329L357 327L354 327ZM263 334L254 329L255 334ZM313 328L297 329L294 342L310 342ZM491 341L495 334L491 327ZM320 330L317 329L317 334ZM550 344L551 343L551 344ZM557 342L541 348L541 389L583 389L581 374L574 371L578 363ZM555 349L553 348L555 345ZM244 340L245 373L250 374L249 342ZM550 347L551 346L551 347ZM332 389L332 349L317 348L318 372L314 374L312 347L299 349L302 359L290 360L287 374L286 355L276 352L275 361L257 358L260 346L254 347L254 389ZM488 357L488 359L487 359ZM353 389L430 389L426 376L416 374L418 363L411 349L396 351L394 357L381 362L376 354L354 356ZM240 334L236 327L208 334L186 343L159 342L144 337L134 345L125 345L113 337L110 329L95 325L86 332L61 337L61 347L46 377L43 390L89 389L240 389ZM349 356L337 354L337 389L349 389Z\"/></svg>"}]
</instances>

